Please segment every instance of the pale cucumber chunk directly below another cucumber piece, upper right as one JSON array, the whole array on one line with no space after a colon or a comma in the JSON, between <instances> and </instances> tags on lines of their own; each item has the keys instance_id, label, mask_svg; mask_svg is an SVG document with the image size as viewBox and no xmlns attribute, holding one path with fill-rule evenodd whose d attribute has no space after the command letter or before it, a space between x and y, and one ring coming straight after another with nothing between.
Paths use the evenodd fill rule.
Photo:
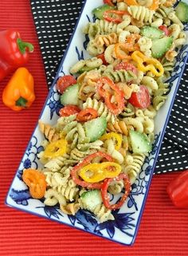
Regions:
<instances>
[{"instance_id":1,"label":"pale cucumber chunk directly below another cucumber piece, upper right","mask_svg":"<svg viewBox=\"0 0 188 256\"><path fill-rule=\"evenodd\" d=\"M172 45L172 37L163 37L152 42L151 53L153 57L162 57Z\"/></svg>"}]
</instances>

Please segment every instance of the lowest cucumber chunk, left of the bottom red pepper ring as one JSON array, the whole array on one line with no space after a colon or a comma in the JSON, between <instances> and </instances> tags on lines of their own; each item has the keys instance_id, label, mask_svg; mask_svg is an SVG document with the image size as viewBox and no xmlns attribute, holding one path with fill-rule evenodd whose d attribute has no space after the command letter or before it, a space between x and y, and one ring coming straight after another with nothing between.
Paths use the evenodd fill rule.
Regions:
<instances>
[{"instance_id":1,"label":"lowest cucumber chunk, left of the bottom red pepper ring","mask_svg":"<svg viewBox=\"0 0 188 256\"><path fill-rule=\"evenodd\" d=\"M93 211L97 205L102 203L101 193L98 190L86 191L81 196L80 199L84 204L84 208L88 211Z\"/></svg>"}]
</instances>

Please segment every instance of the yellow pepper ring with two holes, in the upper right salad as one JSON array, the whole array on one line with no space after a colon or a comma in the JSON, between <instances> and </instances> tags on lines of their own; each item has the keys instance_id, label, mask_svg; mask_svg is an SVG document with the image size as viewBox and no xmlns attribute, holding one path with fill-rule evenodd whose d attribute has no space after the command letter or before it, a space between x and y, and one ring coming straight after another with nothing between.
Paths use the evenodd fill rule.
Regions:
<instances>
[{"instance_id":1,"label":"yellow pepper ring with two holes, in the upper right salad","mask_svg":"<svg viewBox=\"0 0 188 256\"><path fill-rule=\"evenodd\" d=\"M163 65L153 57L146 57L143 53L135 51L131 54L132 59L137 63L138 69L147 72L151 71L156 77L163 76ZM146 63L146 65L143 65Z\"/></svg>"}]
</instances>

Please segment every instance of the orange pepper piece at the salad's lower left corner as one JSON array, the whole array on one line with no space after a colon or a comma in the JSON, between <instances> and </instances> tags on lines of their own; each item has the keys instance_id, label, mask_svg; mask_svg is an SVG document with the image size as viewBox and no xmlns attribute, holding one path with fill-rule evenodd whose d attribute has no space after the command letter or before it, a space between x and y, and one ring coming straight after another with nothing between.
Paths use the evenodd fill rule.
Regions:
<instances>
[{"instance_id":1,"label":"orange pepper piece at the salad's lower left corner","mask_svg":"<svg viewBox=\"0 0 188 256\"><path fill-rule=\"evenodd\" d=\"M29 192L33 199L41 199L45 195L47 183L45 175L41 171L32 168L25 169L22 179L29 187Z\"/></svg>"}]
</instances>

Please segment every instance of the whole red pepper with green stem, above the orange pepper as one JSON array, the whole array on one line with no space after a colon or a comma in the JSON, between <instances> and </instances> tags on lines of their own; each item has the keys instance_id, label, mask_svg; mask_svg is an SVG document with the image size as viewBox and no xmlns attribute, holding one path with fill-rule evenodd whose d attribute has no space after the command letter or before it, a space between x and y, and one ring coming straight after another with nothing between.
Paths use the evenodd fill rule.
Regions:
<instances>
[{"instance_id":1,"label":"whole red pepper with green stem, above the orange pepper","mask_svg":"<svg viewBox=\"0 0 188 256\"><path fill-rule=\"evenodd\" d=\"M0 81L29 60L33 45L22 41L20 33L14 30L0 31Z\"/></svg>"}]
</instances>

